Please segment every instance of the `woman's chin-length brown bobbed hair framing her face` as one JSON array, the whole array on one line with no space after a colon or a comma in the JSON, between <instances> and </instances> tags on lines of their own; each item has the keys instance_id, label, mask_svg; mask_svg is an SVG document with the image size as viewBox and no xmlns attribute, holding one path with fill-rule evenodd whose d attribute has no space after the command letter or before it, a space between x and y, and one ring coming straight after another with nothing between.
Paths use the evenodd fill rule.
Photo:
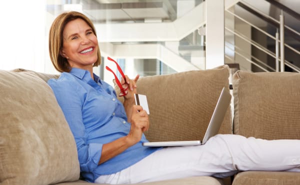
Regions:
<instances>
[{"instance_id":1,"label":"woman's chin-length brown bobbed hair framing her face","mask_svg":"<svg viewBox=\"0 0 300 185\"><path fill-rule=\"evenodd\" d=\"M67 62L66 58L60 55L60 50L62 49L63 44L63 29L65 25L77 18L81 18L84 20L92 29L93 33L96 35L95 28L91 20L82 13L77 11L64 12L58 15L53 21L50 31L49 31L49 55L50 59L59 72L69 72L71 70L71 66ZM97 35L96 35L97 36ZM93 66L98 66L101 63L101 55L100 50L98 49L98 59L93 64Z\"/></svg>"}]
</instances>

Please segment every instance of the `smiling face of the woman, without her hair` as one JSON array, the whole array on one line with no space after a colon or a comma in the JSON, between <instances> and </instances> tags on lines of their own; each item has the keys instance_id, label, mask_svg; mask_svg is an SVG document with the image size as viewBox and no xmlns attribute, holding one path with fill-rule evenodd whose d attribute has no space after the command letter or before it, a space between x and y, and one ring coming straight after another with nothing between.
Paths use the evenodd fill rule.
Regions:
<instances>
[{"instance_id":1,"label":"smiling face of the woman, without her hair","mask_svg":"<svg viewBox=\"0 0 300 185\"><path fill-rule=\"evenodd\" d=\"M63 41L60 54L71 67L90 69L97 60L98 40L91 27L77 18L69 21L62 32Z\"/></svg>"}]
</instances>

